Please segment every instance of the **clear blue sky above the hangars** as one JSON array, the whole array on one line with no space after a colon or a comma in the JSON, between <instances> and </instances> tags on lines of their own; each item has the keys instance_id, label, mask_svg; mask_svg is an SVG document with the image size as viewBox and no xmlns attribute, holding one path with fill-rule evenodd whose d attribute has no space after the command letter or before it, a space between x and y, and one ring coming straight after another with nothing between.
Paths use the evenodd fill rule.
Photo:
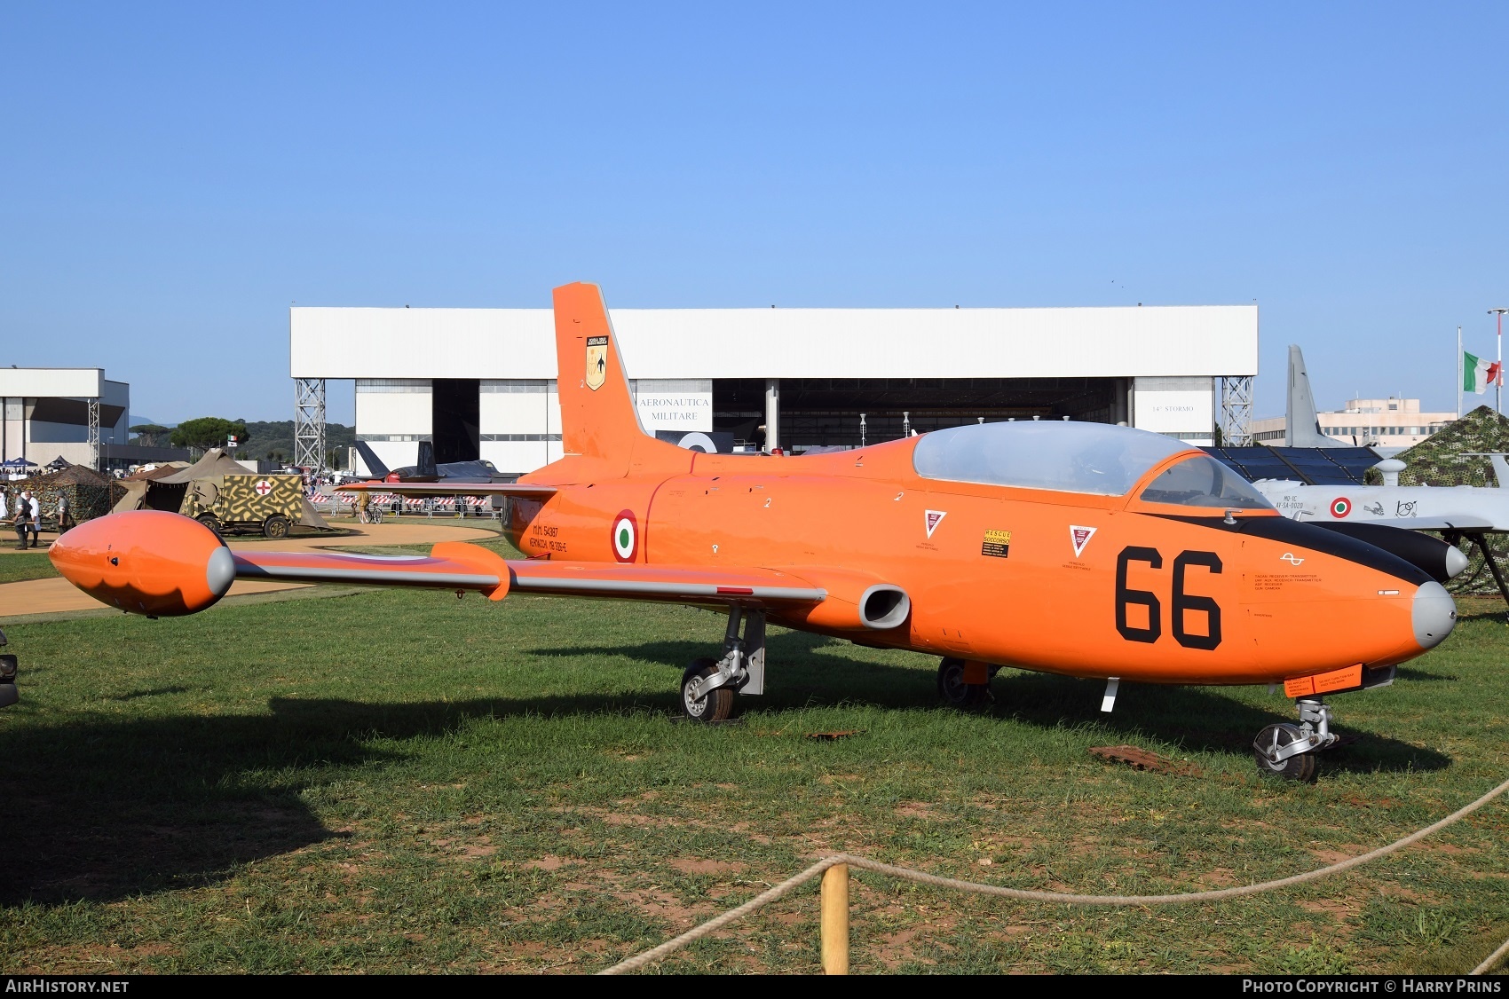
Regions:
<instances>
[{"instance_id":1,"label":"clear blue sky above the hangars","mask_svg":"<svg viewBox=\"0 0 1509 999\"><path fill-rule=\"evenodd\" d=\"M1289 343L1323 407L1450 409L1456 326L1491 355L1509 305L1504 38L1503 3L8 5L0 361L284 420L293 302L1257 300L1262 412Z\"/></svg>"}]
</instances>

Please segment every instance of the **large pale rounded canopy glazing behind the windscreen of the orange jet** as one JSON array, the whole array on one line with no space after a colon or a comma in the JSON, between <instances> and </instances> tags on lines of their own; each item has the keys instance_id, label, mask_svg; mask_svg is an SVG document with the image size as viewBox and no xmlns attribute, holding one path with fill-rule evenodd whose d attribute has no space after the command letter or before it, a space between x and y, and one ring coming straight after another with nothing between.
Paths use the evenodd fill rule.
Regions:
<instances>
[{"instance_id":1,"label":"large pale rounded canopy glazing behind the windscreen of the orange jet","mask_svg":"<svg viewBox=\"0 0 1509 999\"><path fill-rule=\"evenodd\" d=\"M1121 496L1189 445L1105 423L984 423L917 438L911 465L924 478Z\"/></svg>"}]
</instances>

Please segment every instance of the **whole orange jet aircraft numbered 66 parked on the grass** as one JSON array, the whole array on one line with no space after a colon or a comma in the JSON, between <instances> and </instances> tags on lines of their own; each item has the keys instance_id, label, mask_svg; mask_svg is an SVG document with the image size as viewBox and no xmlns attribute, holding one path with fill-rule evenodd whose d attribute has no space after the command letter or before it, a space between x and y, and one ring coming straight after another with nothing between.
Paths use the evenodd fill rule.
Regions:
<instances>
[{"instance_id":1,"label":"whole orange jet aircraft numbered 66 parked on the grass","mask_svg":"<svg viewBox=\"0 0 1509 999\"><path fill-rule=\"evenodd\" d=\"M148 616L213 605L235 578L670 601L727 613L682 706L727 718L765 688L776 623L942 656L939 693L988 697L999 665L1148 684L1284 684L1299 724L1259 768L1314 776L1323 696L1391 682L1440 644L1452 598L1403 557L1283 518L1174 439L1094 423L969 424L804 457L702 454L643 433L596 285L555 290L566 456L501 495L527 560L447 542L427 557L232 552L175 513L88 521L51 560ZM456 495L445 483L346 489Z\"/></svg>"}]
</instances>

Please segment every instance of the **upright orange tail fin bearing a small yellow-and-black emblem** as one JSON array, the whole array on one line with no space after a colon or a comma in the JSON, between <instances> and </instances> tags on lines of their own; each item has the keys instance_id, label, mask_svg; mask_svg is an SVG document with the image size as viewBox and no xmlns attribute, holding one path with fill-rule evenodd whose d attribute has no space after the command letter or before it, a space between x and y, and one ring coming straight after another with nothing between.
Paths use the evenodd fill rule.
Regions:
<instances>
[{"instance_id":1,"label":"upright orange tail fin bearing a small yellow-and-black emblem","mask_svg":"<svg viewBox=\"0 0 1509 999\"><path fill-rule=\"evenodd\" d=\"M561 450L628 471L635 451L652 450L647 445L673 447L640 427L623 355L598 285L561 285L554 300Z\"/></svg>"}]
</instances>

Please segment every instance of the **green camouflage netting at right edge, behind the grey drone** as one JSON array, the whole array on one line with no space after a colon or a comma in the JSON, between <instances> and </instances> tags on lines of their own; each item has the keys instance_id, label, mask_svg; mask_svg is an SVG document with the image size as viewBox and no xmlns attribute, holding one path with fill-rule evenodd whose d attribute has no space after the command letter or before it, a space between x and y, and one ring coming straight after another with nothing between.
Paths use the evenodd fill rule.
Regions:
<instances>
[{"instance_id":1,"label":"green camouflage netting at right edge, behind the grey drone","mask_svg":"<svg viewBox=\"0 0 1509 999\"><path fill-rule=\"evenodd\" d=\"M1444 430L1440 430L1396 457L1405 463L1399 472L1400 486L1504 486L1494 477L1492 463L1486 457L1465 457L1468 451L1509 453L1509 417L1495 413L1489 406L1479 406ZM1367 471L1367 483L1381 486L1376 469ZM1497 534L1488 536L1498 570L1509 579L1509 554ZM1497 595L1498 584L1488 572L1483 554L1477 545L1462 539L1459 548L1467 552L1467 572L1446 584L1452 593Z\"/></svg>"}]
</instances>

